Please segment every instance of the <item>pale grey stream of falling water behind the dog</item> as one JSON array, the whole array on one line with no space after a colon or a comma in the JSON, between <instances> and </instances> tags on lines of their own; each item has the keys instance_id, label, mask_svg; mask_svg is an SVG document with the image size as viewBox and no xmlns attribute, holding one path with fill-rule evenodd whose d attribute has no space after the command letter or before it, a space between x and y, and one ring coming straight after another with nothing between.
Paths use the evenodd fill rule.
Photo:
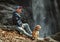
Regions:
<instances>
[{"instance_id":1,"label":"pale grey stream of falling water behind the dog","mask_svg":"<svg viewBox=\"0 0 60 42\"><path fill-rule=\"evenodd\" d=\"M46 19L46 10L44 6L43 0L33 0L32 1L32 9L33 9L33 17L35 20L35 25L40 24L42 29L40 31L40 36L43 37L45 34L48 33L49 26L46 26L44 21Z\"/></svg>"}]
</instances>

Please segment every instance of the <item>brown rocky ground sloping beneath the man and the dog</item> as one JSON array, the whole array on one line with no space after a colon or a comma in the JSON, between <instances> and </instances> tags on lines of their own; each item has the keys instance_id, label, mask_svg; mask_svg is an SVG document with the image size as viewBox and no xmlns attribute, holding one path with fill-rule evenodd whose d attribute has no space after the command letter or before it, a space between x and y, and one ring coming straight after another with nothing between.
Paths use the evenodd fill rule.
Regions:
<instances>
[{"instance_id":1,"label":"brown rocky ground sloping beneath the man and the dog","mask_svg":"<svg viewBox=\"0 0 60 42\"><path fill-rule=\"evenodd\" d=\"M16 30L6 30L0 28L0 42L58 42L51 37L40 40L32 40L31 38L19 34Z\"/></svg>"}]
</instances>

